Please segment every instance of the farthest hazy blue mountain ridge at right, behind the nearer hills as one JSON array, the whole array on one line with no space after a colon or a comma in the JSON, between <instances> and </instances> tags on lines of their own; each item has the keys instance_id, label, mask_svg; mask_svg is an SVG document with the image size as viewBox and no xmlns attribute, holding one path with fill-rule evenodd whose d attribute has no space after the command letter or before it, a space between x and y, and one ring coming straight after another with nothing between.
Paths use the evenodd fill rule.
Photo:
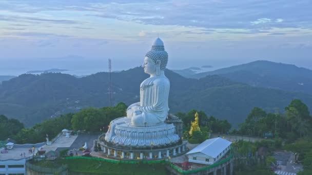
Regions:
<instances>
[{"instance_id":1,"label":"farthest hazy blue mountain ridge at right, behind the nearer hills","mask_svg":"<svg viewBox=\"0 0 312 175\"><path fill-rule=\"evenodd\" d=\"M199 79L207 75L220 75L251 86L312 94L312 70L292 64L259 60L186 77Z\"/></svg>"}]
</instances>

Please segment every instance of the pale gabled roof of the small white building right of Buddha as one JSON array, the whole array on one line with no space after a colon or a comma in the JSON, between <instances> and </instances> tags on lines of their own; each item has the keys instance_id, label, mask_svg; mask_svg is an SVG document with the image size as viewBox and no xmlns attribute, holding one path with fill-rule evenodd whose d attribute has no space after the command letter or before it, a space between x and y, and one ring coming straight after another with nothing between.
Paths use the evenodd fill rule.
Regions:
<instances>
[{"instance_id":1,"label":"pale gabled roof of the small white building right of Buddha","mask_svg":"<svg viewBox=\"0 0 312 175\"><path fill-rule=\"evenodd\" d=\"M203 154L210 156L212 158L217 158L220 153L225 150L232 142L222 139L220 137L208 139L193 148L187 154L192 154L196 152L202 152Z\"/></svg>"}]
</instances>

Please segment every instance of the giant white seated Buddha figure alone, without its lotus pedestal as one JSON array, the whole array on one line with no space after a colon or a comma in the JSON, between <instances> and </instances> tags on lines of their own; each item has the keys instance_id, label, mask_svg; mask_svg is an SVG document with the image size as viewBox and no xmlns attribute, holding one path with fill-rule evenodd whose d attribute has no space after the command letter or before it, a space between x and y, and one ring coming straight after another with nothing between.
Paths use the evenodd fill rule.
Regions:
<instances>
[{"instance_id":1,"label":"giant white seated Buddha figure alone, without its lotus pedestal","mask_svg":"<svg viewBox=\"0 0 312 175\"><path fill-rule=\"evenodd\" d=\"M157 38L152 49L144 58L144 72L150 77L140 85L140 102L131 104L127 109L127 117L132 126L153 126L164 123L168 116L168 96L170 82L164 70L168 62L168 54L164 43Z\"/></svg>"}]
</instances>

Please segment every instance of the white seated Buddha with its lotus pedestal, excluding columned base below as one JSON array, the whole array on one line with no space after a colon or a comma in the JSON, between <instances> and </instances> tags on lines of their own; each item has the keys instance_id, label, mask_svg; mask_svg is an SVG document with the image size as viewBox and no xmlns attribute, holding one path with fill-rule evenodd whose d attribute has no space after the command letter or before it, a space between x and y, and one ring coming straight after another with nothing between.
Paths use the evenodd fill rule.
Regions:
<instances>
[{"instance_id":1,"label":"white seated Buddha with its lotus pedestal, excluding columned base below","mask_svg":"<svg viewBox=\"0 0 312 175\"><path fill-rule=\"evenodd\" d=\"M127 116L109 124L105 140L113 144L150 147L174 144L179 141L174 125L165 123L168 116L170 82L164 70L168 54L164 43L157 38L144 58L144 72L150 77L140 85L140 102L127 108Z\"/></svg>"}]
</instances>

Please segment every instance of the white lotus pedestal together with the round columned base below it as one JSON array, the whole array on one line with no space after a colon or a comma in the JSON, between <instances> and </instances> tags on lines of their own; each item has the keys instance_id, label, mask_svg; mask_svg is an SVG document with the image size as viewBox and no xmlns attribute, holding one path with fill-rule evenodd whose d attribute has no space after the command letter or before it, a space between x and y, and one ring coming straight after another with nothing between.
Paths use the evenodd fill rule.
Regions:
<instances>
[{"instance_id":1,"label":"white lotus pedestal together with the round columned base below it","mask_svg":"<svg viewBox=\"0 0 312 175\"><path fill-rule=\"evenodd\" d=\"M108 132L100 136L99 142L104 147L104 154L110 158L133 160L168 159L184 154L187 143L182 142L172 123L136 127L131 126L127 117L111 121ZM118 155L111 155L110 150Z\"/></svg>"}]
</instances>

